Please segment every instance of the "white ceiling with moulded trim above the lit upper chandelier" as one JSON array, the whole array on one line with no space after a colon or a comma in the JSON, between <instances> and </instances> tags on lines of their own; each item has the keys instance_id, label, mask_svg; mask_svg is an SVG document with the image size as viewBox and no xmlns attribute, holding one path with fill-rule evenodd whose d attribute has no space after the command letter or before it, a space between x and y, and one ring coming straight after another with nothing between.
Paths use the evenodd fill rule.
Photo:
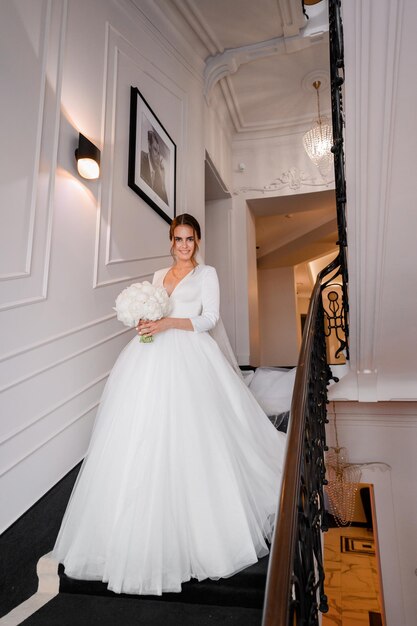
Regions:
<instances>
[{"instance_id":1,"label":"white ceiling with moulded trim above the lit upper chandelier","mask_svg":"<svg viewBox=\"0 0 417 626\"><path fill-rule=\"evenodd\" d=\"M132 0L138 8L143 0ZM206 66L206 95L219 83L235 131L309 124L330 111L327 2L154 0L182 28Z\"/></svg>"}]
</instances>

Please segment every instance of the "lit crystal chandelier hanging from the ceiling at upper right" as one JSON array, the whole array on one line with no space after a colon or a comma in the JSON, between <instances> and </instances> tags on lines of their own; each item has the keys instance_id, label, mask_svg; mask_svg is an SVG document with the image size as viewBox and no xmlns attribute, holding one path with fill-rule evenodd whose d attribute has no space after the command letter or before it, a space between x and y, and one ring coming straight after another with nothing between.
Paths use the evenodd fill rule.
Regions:
<instances>
[{"instance_id":1,"label":"lit crystal chandelier hanging from the ceiling at upper right","mask_svg":"<svg viewBox=\"0 0 417 626\"><path fill-rule=\"evenodd\" d=\"M313 87L317 94L318 117L314 122L313 128L311 128L311 130L306 132L304 135L303 143L308 156L313 163L317 165L322 176L325 176L333 163L333 154L331 152L333 137L332 129L327 121L327 118L321 117L320 115L320 85L321 82L319 80L315 80L313 83Z\"/></svg>"}]
</instances>

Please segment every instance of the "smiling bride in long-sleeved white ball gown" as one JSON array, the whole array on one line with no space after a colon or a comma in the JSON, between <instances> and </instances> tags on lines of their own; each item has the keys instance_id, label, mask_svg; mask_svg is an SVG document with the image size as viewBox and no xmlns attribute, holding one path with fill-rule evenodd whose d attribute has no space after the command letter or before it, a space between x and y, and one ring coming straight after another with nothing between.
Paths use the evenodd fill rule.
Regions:
<instances>
[{"instance_id":1,"label":"smiling bride in long-sleeved white ball gown","mask_svg":"<svg viewBox=\"0 0 417 626\"><path fill-rule=\"evenodd\" d=\"M267 554L285 436L208 331L216 270L198 265L198 222L174 219L174 263L155 273L170 317L142 321L108 379L55 544L73 578L115 592L181 591Z\"/></svg>"}]
</instances>

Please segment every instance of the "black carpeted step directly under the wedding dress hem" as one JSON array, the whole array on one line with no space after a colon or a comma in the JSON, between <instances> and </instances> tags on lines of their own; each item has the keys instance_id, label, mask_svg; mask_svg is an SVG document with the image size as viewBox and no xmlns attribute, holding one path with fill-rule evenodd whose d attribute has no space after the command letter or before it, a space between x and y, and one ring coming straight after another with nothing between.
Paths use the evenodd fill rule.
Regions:
<instances>
[{"instance_id":1,"label":"black carpeted step directly under the wedding dress hem","mask_svg":"<svg viewBox=\"0 0 417 626\"><path fill-rule=\"evenodd\" d=\"M190 580L183 583L181 593L164 593L162 596L115 594L99 581L76 580L66 576L63 566L59 568L60 594L77 594L123 597L130 600L147 600L187 604L204 604L229 607L261 609L264 600L268 556L230 578L220 580ZM226 622L227 623L227 622Z\"/></svg>"}]
</instances>

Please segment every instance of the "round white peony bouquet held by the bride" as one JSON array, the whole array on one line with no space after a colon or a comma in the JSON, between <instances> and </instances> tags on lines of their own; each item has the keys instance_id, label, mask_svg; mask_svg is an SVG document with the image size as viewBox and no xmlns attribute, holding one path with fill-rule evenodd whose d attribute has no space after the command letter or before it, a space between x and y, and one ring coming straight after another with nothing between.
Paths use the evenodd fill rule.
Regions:
<instances>
[{"instance_id":1,"label":"round white peony bouquet held by the bride","mask_svg":"<svg viewBox=\"0 0 417 626\"><path fill-rule=\"evenodd\" d=\"M170 311L169 296L164 287L155 287L145 280L123 289L116 298L114 310L119 322L133 328L139 320L154 321L166 317ZM140 340L149 343L153 337L141 336Z\"/></svg>"}]
</instances>

